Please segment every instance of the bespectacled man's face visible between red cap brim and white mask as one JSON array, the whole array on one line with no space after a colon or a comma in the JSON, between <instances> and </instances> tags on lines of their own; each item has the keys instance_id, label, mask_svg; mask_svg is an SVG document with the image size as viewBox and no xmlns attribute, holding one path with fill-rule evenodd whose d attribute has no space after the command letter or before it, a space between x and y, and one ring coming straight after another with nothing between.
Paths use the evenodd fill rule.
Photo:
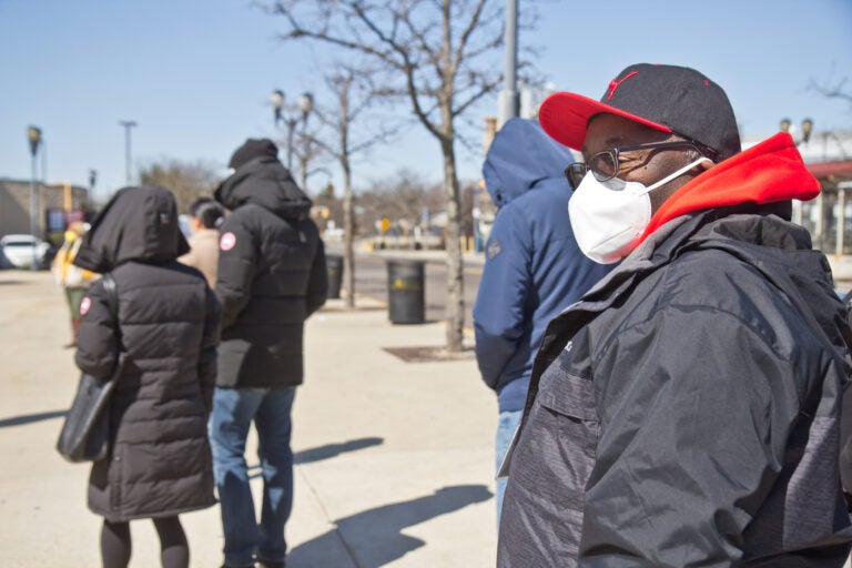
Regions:
<instances>
[{"instance_id":1,"label":"bespectacled man's face visible between red cap brim and white mask","mask_svg":"<svg viewBox=\"0 0 852 568\"><path fill-rule=\"evenodd\" d=\"M592 155L605 150L677 140L682 139L615 114L599 114L589 123L589 131L582 145L582 156L588 162ZM688 151L689 146L676 146L619 152L616 176L625 181L651 185L687 165L690 162ZM699 164L689 173L651 191L648 194L651 200L651 211L656 213L672 193L702 171L702 165Z\"/></svg>"}]
</instances>

